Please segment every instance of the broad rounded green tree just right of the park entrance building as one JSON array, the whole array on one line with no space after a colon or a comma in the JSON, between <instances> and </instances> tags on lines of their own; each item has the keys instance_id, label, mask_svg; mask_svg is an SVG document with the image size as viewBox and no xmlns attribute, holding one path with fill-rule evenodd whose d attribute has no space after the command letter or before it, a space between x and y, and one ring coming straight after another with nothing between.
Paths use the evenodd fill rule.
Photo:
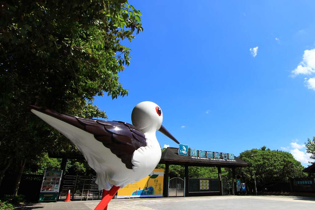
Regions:
<instances>
[{"instance_id":1,"label":"broad rounded green tree just right of the park entrance building","mask_svg":"<svg viewBox=\"0 0 315 210\"><path fill-rule=\"evenodd\" d=\"M255 173L257 190L268 183L288 182L289 178L305 176L302 172L304 167L289 152L262 147L260 150L246 150L238 157L249 163L249 167L237 168L238 178L253 185Z\"/></svg>"}]
</instances>

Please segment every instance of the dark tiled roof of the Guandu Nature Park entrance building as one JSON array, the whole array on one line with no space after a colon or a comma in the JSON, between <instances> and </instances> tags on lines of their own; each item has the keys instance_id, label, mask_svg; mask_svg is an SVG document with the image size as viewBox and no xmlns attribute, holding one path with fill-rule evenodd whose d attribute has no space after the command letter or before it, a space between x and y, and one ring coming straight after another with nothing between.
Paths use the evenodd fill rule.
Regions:
<instances>
[{"instance_id":1,"label":"dark tiled roof of the Guandu Nature Park entrance building","mask_svg":"<svg viewBox=\"0 0 315 210\"><path fill-rule=\"evenodd\" d=\"M189 151L188 151L189 154ZM192 158L191 156L183 156L178 155L178 148L175 147L168 147L166 150L162 152L161 161L160 163L169 162L169 164L174 165L188 165L188 166L209 166L209 167L243 167L248 166L248 163L242 161L238 157L235 156L234 161L227 161L227 160L218 160L214 159L211 160L210 158L205 159L196 159Z\"/></svg>"}]
</instances>

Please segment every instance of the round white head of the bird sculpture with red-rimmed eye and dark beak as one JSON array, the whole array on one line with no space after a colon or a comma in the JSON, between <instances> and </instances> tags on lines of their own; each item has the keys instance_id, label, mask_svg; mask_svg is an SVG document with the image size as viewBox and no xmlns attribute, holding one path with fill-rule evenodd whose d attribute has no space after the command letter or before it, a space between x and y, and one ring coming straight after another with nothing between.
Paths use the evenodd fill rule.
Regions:
<instances>
[{"instance_id":1,"label":"round white head of the bird sculpture with red-rimmed eye and dark beak","mask_svg":"<svg viewBox=\"0 0 315 210\"><path fill-rule=\"evenodd\" d=\"M143 133L154 133L158 130L177 144L179 142L162 125L163 112L156 103L143 101L135 106L131 113L132 124Z\"/></svg>"}]
</instances>

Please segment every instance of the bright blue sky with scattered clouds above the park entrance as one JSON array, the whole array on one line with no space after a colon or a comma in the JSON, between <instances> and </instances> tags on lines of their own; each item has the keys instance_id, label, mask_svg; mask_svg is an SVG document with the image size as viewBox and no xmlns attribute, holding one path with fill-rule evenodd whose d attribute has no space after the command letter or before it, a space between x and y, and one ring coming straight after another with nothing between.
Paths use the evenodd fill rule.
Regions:
<instances>
[{"instance_id":1,"label":"bright blue sky with scattered clouds above the park entrance","mask_svg":"<svg viewBox=\"0 0 315 210\"><path fill-rule=\"evenodd\" d=\"M307 166L315 135L313 1L129 1L144 31L125 44L127 97L97 97L108 120L141 101L180 143L239 155L266 145ZM250 50L251 49L251 50ZM157 132L160 145L177 145Z\"/></svg>"}]
</instances>

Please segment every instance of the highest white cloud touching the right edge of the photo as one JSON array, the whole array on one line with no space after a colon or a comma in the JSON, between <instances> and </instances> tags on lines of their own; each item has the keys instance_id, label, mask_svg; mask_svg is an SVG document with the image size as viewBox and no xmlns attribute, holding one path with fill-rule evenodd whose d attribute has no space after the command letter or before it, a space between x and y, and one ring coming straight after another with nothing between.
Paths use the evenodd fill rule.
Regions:
<instances>
[{"instance_id":1,"label":"highest white cloud touching the right edge of the photo","mask_svg":"<svg viewBox=\"0 0 315 210\"><path fill-rule=\"evenodd\" d=\"M305 50L303 59L300 64L291 71L291 77L296 77L299 74L310 75L315 72L315 48L311 50Z\"/></svg>"}]
</instances>

